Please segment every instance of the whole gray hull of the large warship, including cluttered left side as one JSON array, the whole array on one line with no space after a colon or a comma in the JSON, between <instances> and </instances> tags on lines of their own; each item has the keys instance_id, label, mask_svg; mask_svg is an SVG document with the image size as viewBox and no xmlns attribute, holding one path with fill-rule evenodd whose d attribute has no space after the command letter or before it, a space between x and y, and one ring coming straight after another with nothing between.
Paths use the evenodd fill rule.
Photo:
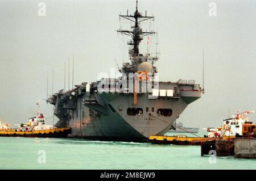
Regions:
<instances>
[{"instance_id":1,"label":"whole gray hull of the large warship, including cluttered left side","mask_svg":"<svg viewBox=\"0 0 256 181\"><path fill-rule=\"evenodd\" d=\"M201 91L193 90L195 85L179 85L178 83L159 83L161 89L191 89L175 92L174 96L159 96L149 99L149 94L137 96L134 105L134 95L130 93L82 93L71 100L64 95L57 95L55 115L60 118L57 127L72 128L69 137L113 141L143 141L151 135L164 135L174 121L185 110L187 105L201 96ZM80 87L81 89L81 87ZM178 93L179 92L179 93ZM93 99L91 99L93 97ZM90 98L90 102L85 100ZM140 113L128 110L139 109ZM169 110L164 115L159 110Z\"/></svg>"}]
</instances>

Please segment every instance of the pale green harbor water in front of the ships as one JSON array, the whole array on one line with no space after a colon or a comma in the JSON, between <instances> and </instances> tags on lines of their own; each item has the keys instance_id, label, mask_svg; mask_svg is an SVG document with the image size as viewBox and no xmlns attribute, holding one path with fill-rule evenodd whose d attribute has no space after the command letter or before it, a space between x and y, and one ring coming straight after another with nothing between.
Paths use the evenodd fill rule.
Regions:
<instances>
[{"instance_id":1,"label":"pale green harbor water in front of the ships","mask_svg":"<svg viewBox=\"0 0 256 181\"><path fill-rule=\"evenodd\" d=\"M0 137L0 169L256 169L256 159L209 159L200 146Z\"/></svg>"}]
</instances>

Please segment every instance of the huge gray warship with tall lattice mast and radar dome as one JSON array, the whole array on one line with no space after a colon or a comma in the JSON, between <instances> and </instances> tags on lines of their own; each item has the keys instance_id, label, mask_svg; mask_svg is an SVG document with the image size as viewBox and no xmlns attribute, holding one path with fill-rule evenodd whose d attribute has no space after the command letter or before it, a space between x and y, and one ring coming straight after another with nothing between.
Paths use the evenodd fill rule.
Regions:
<instances>
[{"instance_id":1,"label":"huge gray warship with tall lattice mast and radar dome","mask_svg":"<svg viewBox=\"0 0 256 181\"><path fill-rule=\"evenodd\" d=\"M188 104L201 97L203 89L195 81L160 82L154 66L158 56L139 53L143 36L141 22L153 19L138 11L119 15L134 23L128 35L130 62L124 63L118 78L83 82L68 91L48 97L59 118L56 127L71 127L72 138L111 141L143 141L151 135L164 135Z\"/></svg>"}]
</instances>

